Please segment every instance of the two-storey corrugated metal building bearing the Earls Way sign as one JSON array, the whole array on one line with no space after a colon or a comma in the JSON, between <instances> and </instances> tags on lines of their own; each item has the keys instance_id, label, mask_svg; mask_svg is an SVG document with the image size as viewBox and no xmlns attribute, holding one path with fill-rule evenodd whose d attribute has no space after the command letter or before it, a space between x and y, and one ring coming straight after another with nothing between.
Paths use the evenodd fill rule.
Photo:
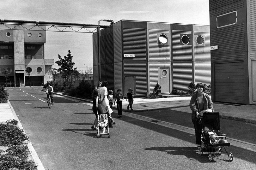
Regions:
<instances>
[{"instance_id":1,"label":"two-storey corrugated metal building bearing the Earls Way sign","mask_svg":"<svg viewBox=\"0 0 256 170\"><path fill-rule=\"evenodd\" d=\"M146 96L156 83L170 94L211 82L209 26L121 20L101 30L100 51L98 38L94 33L94 85L107 80L115 92Z\"/></svg>"}]
</instances>

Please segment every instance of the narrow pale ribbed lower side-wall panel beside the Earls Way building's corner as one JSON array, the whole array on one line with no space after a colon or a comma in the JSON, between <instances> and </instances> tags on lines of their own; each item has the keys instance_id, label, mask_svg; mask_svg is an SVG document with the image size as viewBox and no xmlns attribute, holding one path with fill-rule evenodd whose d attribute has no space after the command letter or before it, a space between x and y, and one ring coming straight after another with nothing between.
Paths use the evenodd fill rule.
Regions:
<instances>
[{"instance_id":1,"label":"narrow pale ribbed lower side-wall panel beside the Earls Way building's corner","mask_svg":"<svg viewBox=\"0 0 256 170\"><path fill-rule=\"evenodd\" d=\"M122 89L122 91L124 91L123 89L123 72L122 72L122 68L123 68L123 64L122 62L115 62L114 63L114 78L115 78L115 90L114 90L114 94L117 94L117 89Z\"/></svg>"}]
</instances>

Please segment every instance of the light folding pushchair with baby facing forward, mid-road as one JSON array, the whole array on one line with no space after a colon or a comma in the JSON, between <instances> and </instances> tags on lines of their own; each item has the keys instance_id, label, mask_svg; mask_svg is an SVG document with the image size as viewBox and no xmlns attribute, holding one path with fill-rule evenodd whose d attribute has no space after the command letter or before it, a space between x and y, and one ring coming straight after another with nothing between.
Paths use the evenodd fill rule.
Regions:
<instances>
[{"instance_id":1,"label":"light folding pushchair with baby facing forward, mid-road","mask_svg":"<svg viewBox=\"0 0 256 170\"><path fill-rule=\"evenodd\" d=\"M98 121L97 125L97 138L100 138L100 135L107 135L108 138L110 138L110 133L109 133L109 121L108 121L108 116L107 114L100 114L99 115L100 120Z\"/></svg>"}]
</instances>

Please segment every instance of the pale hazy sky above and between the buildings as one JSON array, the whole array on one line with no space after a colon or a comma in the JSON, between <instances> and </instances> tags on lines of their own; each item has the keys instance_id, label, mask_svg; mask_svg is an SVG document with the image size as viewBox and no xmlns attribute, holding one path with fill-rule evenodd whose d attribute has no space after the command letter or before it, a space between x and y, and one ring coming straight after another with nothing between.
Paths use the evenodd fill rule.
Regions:
<instances>
[{"instance_id":1,"label":"pale hazy sky above and between the buildings","mask_svg":"<svg viewBox=\"0 0 256 170\"><path fill-rule=\"evenodd\" d=\"M210 25L208 0L0 0L0 11L4 20L97 25L99 20L110 19ZM46 32L46 59L57 61L58 54L64 57L68 50L77 70L93 67L92 33Z\"/></svg>"}]
</instances>

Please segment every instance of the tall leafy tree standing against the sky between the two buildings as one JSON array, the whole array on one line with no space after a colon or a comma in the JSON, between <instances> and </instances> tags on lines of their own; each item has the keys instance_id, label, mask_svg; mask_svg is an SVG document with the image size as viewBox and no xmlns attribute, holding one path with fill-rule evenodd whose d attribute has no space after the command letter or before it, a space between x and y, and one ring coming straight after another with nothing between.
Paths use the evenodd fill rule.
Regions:
<instances>
[{"instance_id":1,"label":"tall leafy tree standing against the sky between the two buildings","mask_svg":"<svg viewBox=\"0 0 256 170\"><path fill-rule=\"evenodd\" d=\"M72 76L72 72L74 71L73 67L75 63L72 62L72 58L73 56L71 55L70 50L68 50L68 54L67 56L64 56L64 58L62 58L58 54L59 60L55 62L59 66L59 68L58 69L54 68L54 70L57 70L59 73L61 73L61 77L65 79L66 83L67 83L67 79L70 79L70 77Z\"/></svg>"}]
</instances>

